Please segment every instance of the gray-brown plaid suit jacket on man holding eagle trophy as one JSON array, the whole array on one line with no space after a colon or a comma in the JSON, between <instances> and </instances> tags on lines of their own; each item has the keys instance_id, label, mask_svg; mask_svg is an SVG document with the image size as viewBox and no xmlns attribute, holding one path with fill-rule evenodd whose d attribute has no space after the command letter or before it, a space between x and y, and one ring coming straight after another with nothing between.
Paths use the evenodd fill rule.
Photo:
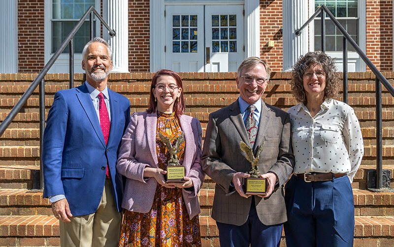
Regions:
<instances>
[{"instance_id":1,"label":"gray-brown plaid suit jacket on man holding eagle trophy","mask_svg":"<svg viewBox=\"0 0 394 247\"><path fill-rule=\"evenodd\" d=\"M238 100L209 114L201 167L216 182L212 218L234 225L246 222L252 202L251 196L241 197L230 186L235 172L248 172L251 166L239 148L241 141L249 143ZM262 174L274 172L279 178L279 187L268 198L255 196L256 209L263 224L279 224L287 220L283 184L292 174L295 162L290 116L264 102L253 148L255 154L263 142L259 170Z\"/></svg>"}]
</instances>

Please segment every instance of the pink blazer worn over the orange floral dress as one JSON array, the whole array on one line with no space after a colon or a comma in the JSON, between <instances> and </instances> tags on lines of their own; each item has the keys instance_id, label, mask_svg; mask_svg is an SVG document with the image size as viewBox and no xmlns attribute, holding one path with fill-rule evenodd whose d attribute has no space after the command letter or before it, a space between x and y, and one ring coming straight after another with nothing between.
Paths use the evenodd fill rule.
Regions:
<instances>
[{"instance_id":1,"label":"pink blazer worn over the orange floral dress","mask_svg":"<svg viewBox=\"0 0 394 247\"><path fill-rule=\"evenodd\" d=\"M194 185L193 192L182 190L192 219L200 212L197 193L204 181L200 166L202 130L197 118L187 115L178 118L186 142L183 166L186 176L192 178ZM152 208L158 183L155 178L144 180L143 172L145 166L158 168L156 125L156 112L135 112L122 138L116 170L127 177L122 208L132 212L147 213Z\"/></svg>"}]
</instances>

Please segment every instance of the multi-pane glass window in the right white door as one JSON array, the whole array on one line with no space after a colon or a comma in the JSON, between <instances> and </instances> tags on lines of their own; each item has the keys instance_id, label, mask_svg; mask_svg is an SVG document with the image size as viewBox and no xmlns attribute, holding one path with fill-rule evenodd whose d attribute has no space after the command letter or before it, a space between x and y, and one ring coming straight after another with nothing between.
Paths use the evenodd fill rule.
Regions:
<instances>
[{"instance_id":1,"label":"multi-pane glass window in the right white door","mask_svg":"<svg viewBox=\"0 0 394 247\"><path fill-rule=\"evenodd\" d=\"M212 52L237 52L237 16L212 15Z\"/></svg>"}]
</instances>

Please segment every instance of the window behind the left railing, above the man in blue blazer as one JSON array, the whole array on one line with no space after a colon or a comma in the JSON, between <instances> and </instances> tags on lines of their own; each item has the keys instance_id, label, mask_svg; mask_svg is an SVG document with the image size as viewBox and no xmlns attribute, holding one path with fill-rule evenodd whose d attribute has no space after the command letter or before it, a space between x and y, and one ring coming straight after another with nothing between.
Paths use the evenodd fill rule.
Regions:
<instances>
[{"instance_id":1,"label":"window behind the left railing, above the man in blue blazer","mask_svg":"<svg viewBox=\"0 0 394 247\"><path fill-rule=\"evenodd\" d=\"M55 53L58 50L68 33L75 27L91 5L95 6L95 0L52 0L51 53ZM93 36L96 36L95 20L93 30ZM89 39L89 19L87 19L74 36L74 52L82 53L83 47ZM68 53L68 46L66 46L63 53Z\"/></svg>"}]
</instances>

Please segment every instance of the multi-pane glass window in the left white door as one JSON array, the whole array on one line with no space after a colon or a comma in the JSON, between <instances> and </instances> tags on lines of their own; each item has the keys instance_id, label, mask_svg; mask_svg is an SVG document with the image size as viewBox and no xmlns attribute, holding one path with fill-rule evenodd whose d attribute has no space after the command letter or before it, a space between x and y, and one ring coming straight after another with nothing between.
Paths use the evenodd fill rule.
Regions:
<instances>
[{"instance_id":1,"label":"multi-pane glass window in the left white door","mask_svg":"<svg viewBox=\"0 0 394 247\"><path fill-rule=\"evenodd\" d=\"M197 53L197 15L172 16L172 52Z\"/></svg>"}]
</instances>

